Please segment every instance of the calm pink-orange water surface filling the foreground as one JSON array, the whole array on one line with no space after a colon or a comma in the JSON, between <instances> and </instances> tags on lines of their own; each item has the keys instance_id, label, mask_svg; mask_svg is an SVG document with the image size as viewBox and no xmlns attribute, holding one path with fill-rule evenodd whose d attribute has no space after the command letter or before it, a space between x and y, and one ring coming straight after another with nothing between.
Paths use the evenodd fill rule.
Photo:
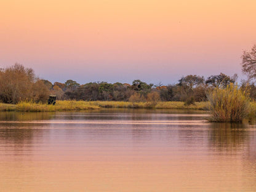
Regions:
<instances>
[{"instance_id":1,"label":"calm pink-orange water surface filling the foreground","mask_svg":"<svg viewBox=\"0 0 256 192\"><path fill-rule=\"evenodd\" d=\"M0 191L256 191L256 126L206 116L0 113Z\"/></svg>"}]
</instances>

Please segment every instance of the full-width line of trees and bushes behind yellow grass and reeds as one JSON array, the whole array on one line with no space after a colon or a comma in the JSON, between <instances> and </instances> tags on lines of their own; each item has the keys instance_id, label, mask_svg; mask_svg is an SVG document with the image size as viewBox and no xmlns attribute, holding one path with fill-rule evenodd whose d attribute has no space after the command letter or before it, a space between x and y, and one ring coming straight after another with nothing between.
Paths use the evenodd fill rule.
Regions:
<instances>
[{"instance_id":1,"label":"full-width line of trees and bushes behind yellow grass and reeds","mask_svg":"<svg viewBox=\"0 0 256 192\"><path fill-rule=\"evenodd\" d=\"M256 97L256 45L250 51L242 54L242 71L247 74L247 81L242 81L240 87L250 87L250 97ZM116 82L89 82L79 84L71 79L66 82L52 82L39 79L31 68L15 64L9 68L0 69L0 102L18 103L24 100L46 102L50 94L57 95L58 100L85 101L182 101L186 104L207 100L207 92L215 87L225 89L230 83L235 83L238 75L228 76L220 73L204 78L204 76L187 75L178 79L177 84L163 86L148 84L135 79L131 84Z\"/></svg>"}]
</instances>

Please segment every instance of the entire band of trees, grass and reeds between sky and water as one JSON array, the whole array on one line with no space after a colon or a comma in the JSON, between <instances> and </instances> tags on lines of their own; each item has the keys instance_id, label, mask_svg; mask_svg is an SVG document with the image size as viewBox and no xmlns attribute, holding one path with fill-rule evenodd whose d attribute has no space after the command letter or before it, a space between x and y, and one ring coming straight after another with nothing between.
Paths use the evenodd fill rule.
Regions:
<instances>
[{"instance_id":1,"label":"entire band of trees, grass and reeds between sky and water","mask_svg":"<svg viewBox=\"0 0 256 192\"><path fill-rule=\"evenodd\" d=\"M256 119L256 45L242 54L242 72L248 80L238 86L238 75L220 73L207 78L189 74L177 84L65 83L39 79L34 70L15 63L0 68L0 111L81 111L102 108L204 110L212 122L242 122ZM56 105L47 105L56 95Z\"/></svg>"}]
</instances>

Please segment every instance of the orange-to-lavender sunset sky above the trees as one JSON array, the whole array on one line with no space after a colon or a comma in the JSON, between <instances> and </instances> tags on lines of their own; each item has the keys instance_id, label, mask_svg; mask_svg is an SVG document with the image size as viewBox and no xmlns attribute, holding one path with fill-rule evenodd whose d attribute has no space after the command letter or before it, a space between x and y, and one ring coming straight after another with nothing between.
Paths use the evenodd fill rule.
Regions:
<instances>
[{"instance_id":1,"label":"orange-to-lavender sunset sky above the trees","mask_svg":"<svg viewBox=\"0 0 256 192\"><path fill-rule=\"evenodd\" d=\"M42 79L173 84L241 72L255 0L0 0L0 68Z\"/></svg>"}]
</instances>

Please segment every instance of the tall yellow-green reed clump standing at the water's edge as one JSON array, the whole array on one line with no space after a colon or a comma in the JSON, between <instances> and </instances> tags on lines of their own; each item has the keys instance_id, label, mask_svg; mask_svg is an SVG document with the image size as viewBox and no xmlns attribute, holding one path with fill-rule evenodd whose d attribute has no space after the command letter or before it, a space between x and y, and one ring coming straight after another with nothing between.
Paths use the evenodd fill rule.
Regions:
<instances>
[{"instance_id":1,"label":"tall yellow-green reed clump standing at the water's edge","mask_svg":"<svg viewBox=\"0 0 256 192\"><path fill-rule=\"evenodd\" d=\"M250 113L248 90L230 84L225 89L215 88L207 94L209 110L214 122L241 122Z\"/></svg>"}]
</instances>

